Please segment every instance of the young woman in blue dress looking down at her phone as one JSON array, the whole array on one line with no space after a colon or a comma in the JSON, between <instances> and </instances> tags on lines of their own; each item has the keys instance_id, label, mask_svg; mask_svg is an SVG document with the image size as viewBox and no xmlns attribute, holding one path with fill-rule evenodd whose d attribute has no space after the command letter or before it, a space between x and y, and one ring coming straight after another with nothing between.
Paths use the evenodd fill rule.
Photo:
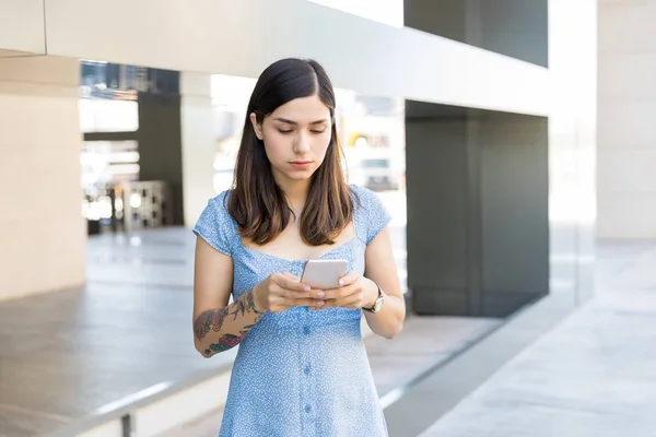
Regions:
<instances>
[{"instance_id":1,"label":"young woman in blue dress looking down at her phone","mask_svg":"<svg viewBox=\"0 0 656 437\"><path fill-rule=\"evenodd\" d=\"M239 344L221 436L387 435L360 323L364 314L387 339L402 327L389 220L376 194L344 181L321 66L268 67L233 188L194 229L196 349L211 357ZM349 272L337 288L311 290L300 282L308 259L345 259Z\"/></svg>"}]
</instances>

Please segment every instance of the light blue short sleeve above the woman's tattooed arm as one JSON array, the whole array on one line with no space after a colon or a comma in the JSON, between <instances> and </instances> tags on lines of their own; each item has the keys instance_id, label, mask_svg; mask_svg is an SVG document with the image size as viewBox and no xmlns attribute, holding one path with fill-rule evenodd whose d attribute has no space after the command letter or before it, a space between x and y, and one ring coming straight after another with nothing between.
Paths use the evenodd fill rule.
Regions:
<instances>
[{"instance_id":1,"label":"light blue short sleeve above the woman's tattooed arm","mask_svg":"<svg viewBox=\"0 0 656 437\"><path fill-rule=\"evenodd\" d=\"M194 234L202 237L210 246L222 253L232 256L234 224L226 208L226 191L209 200L200 214Z\"/></svg>"}]
</instances>

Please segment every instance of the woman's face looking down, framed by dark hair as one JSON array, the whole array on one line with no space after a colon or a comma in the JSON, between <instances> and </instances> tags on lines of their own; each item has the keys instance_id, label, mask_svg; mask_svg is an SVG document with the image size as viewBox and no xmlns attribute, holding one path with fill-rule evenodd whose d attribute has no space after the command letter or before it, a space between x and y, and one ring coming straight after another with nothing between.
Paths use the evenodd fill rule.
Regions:
<instances>
[{"instance_id":1,"label":"woman's face looking down, framed by dark hair","mask_svg":"<svg viewBox=\"0 0 656 437\"><path fill-rule=\"evenodd\" d=\"M279 106L257 123L250 121L265 151L278 184L305 180L319 168L330 144L330 110L317 95L295 98Z\"/></svg>"}]
</instances>

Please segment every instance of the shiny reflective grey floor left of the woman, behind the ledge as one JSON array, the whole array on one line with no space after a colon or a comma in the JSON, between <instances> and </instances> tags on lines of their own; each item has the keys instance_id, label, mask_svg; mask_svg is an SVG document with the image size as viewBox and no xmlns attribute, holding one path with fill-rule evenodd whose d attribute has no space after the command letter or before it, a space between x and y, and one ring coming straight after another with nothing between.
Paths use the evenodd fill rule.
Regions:
<instances>
[{"instance_id":1,"label":"shiny reflective grey floor left of the woman, behind the ledge","mask_svg":"<svg viewBox=\"0 0 656 437\"><path fill-rule=\"evenodd\" d=\"M37 436L232 358L194 349L188 290L90 284L0 305L0 436ZM224 356L223 356L224 355Z\"/></svg>"}]
</instances>

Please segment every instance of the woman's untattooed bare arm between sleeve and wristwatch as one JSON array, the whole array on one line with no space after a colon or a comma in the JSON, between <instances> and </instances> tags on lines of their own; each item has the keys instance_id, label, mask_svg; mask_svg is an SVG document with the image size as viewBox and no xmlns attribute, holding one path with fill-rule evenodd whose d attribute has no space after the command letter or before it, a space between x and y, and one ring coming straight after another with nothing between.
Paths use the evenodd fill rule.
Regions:
<instances>
[{"instance_id":1,"label":"woman's untattooed bare arm between sleeve and wristwatch","mask_svg":"<svg viewBox=\"0 0 656 437\"><path fill-rule=\"evenodd\" d=\"M365 272L368 286L363 294L366 304L371 308L378 298L378 287L385 294L383 309L376 314L363 311L366 322L376 334L393 339L403 327L406 319L406 300L401 292L399 273L397 271L389 231L386 227L366 247L364 255Z\"/></svg>"}]
</instances>

